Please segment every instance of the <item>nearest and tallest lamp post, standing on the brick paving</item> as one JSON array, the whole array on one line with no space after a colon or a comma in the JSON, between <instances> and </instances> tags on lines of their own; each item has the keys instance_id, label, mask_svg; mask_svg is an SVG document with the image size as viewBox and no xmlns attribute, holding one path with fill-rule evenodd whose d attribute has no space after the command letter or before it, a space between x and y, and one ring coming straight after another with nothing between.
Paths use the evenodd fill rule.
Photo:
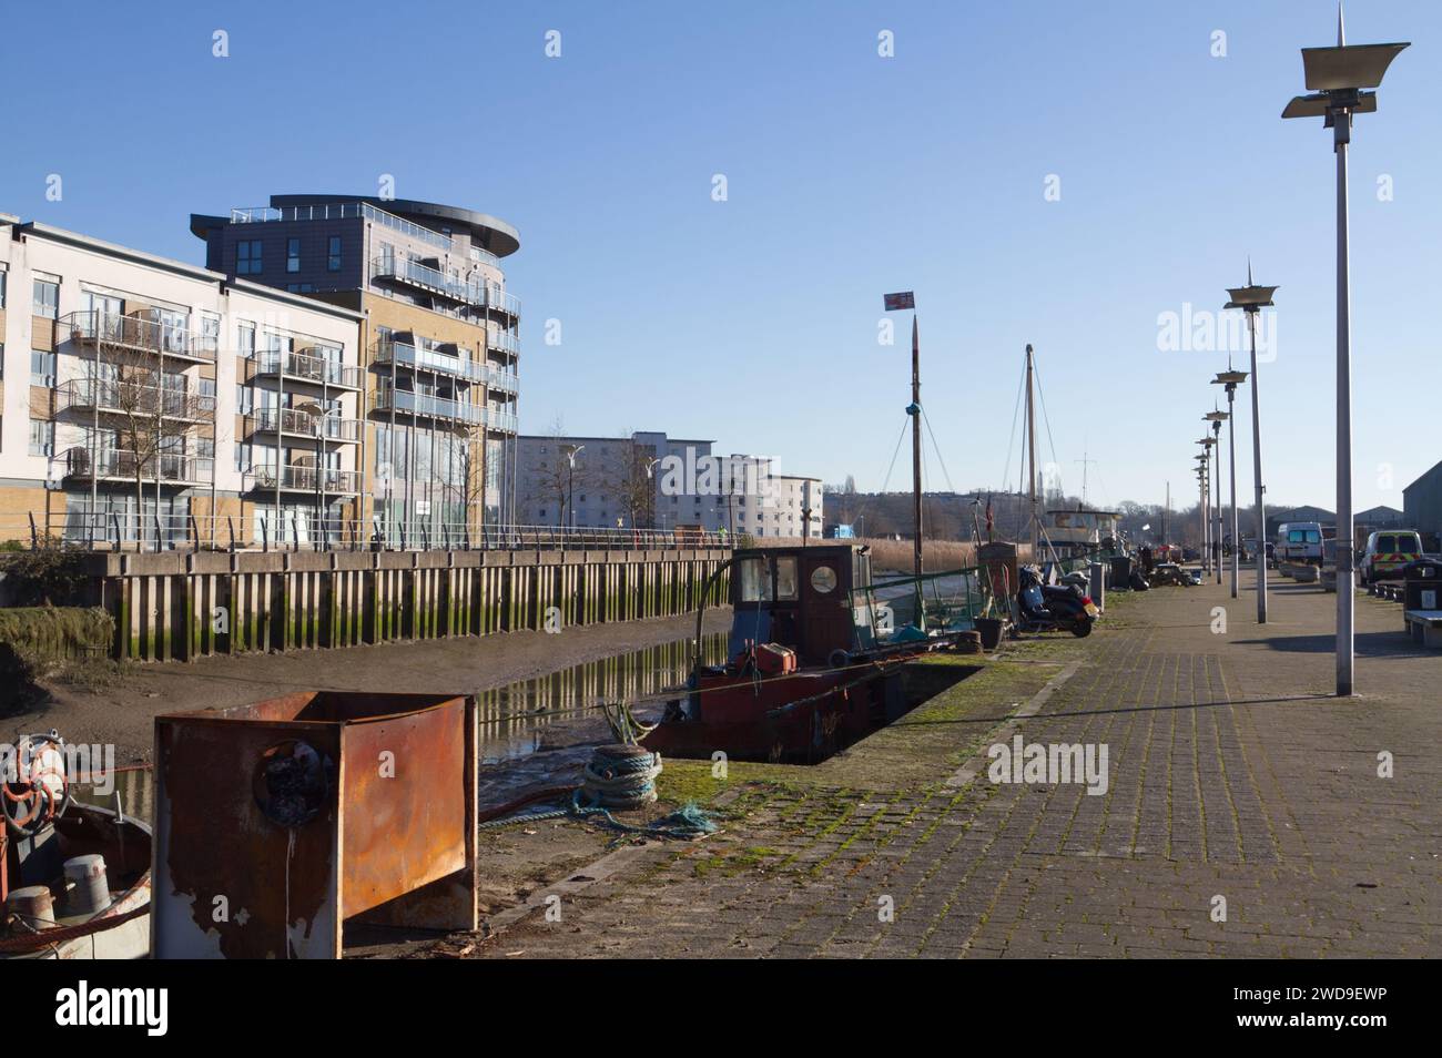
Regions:
<instances>
[{"instance_id":1,"label":"nearest and tallest lamp post, standing on the brick paving","mask_svg":"<svg viewBox=\"0 0 1442 1058\"><path fill-rule=\"evenodd\" d=\"M1377 110L1377 94L1387 66L1407 43L1348 45L1341 7L1337 9L1337 46L1304 48L1302 74L1309 95L1298 95L1283 118L1322 118L1332 130L1337 154L1337 695L1353 693L1353 539L1351 494L1351 284L1347 248L1347 144L1353 114Z\"/></svg>"}]
</instances>

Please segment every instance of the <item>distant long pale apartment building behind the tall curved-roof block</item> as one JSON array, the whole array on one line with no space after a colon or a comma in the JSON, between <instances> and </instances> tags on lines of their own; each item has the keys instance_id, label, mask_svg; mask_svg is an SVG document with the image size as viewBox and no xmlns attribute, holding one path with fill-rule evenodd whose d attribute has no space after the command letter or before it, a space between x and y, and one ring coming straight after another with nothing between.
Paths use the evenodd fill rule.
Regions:
<instances>
[{"instance_id":1,"label":"distant long pale apartment building behind the tall curved-roof block","mask_svg":"<svg viewBox=\"0 0 1442 1058\"><path fill-rule=\"evenodd\" d=\"M758 455L715 455L714 441L522 434L518 519L536 526L675 529L767 538L822 535L820 481L774 473Z\"/></svg>"}]
</instances>

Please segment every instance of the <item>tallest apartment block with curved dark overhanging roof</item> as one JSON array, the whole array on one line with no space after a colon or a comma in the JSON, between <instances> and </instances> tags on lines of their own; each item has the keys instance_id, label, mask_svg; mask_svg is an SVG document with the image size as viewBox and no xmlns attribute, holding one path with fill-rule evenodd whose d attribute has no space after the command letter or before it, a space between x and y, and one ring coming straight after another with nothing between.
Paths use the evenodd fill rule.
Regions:
<instances>
[{"instance_id":1,"label":"tallest apartment block with curved dark overhanging roof","mask_svg":"<svg viewBox=\"0 0 1442 1058\"><path fill-rule=\"evenodd\" d=\"M515 228L459 206L274 195L192 215L206 267L360 317L362 517L395 545L515 520Z\"/></svg>"}]
</instances>

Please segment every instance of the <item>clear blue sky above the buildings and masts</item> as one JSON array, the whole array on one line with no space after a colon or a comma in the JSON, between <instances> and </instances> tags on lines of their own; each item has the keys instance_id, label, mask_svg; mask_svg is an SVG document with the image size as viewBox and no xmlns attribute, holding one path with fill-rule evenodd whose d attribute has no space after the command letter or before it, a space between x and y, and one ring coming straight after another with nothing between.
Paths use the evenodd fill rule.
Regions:
<instances>
[{"instance_id":1,"label":"clear blue sky above the buildings and masts","mask_svg":"<svg viewBox=\"0 0 1442 1058\"><path fill-rule=\"evenodd\" d=\"M4 26L0 210L199 262L192 210L391 173L401 197L516 225L528 432L665 430L877 487L908 401L908 319L878 346L881 294L914 288L955 487L1002 484L1031 342L1069 490L1086 451L1093 502L1161 502L1167 480L1185 502L1226 355L1159 352L1158 316L1218 308L1252 254L1280 284L1269 502L1332 506L1332 153L1319 121L1279 120L1298 48L1334 42L1330 0L12 0ZM1347 27L1413 42L1351 167L1357 502L1400 507L1442 458L1405 405L1442 392L1442 6L1353 0Z\"/></svg>"}]
</instances>

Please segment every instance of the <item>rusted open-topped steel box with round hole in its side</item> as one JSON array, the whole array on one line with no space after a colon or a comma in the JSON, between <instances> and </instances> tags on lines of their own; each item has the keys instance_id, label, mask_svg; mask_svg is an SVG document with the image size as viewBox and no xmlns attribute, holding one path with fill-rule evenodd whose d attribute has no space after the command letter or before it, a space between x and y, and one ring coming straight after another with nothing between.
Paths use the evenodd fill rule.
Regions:
<instances>
[{"instance_id":1,"label":"rusted open-topped steel box with round hole in its side","mask_svg":"<svg viewBox=\"0 0 1442 1058\"><path fill-rule=\"evenodd\" d=\"M476 699L303 692L156 718L154 959L474 930Z\"/></svg>"}]
</instances>

